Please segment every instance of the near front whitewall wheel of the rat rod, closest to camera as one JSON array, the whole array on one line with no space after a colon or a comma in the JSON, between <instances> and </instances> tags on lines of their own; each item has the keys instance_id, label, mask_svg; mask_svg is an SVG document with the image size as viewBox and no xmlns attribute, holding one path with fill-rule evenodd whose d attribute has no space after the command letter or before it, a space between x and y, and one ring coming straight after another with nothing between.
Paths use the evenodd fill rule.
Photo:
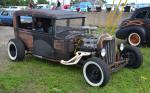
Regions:
<instances>
[{"instance_id":1,"label":"near front whitewall wheel of the rat rod, closest to camera","mask_svg":"<svg viewBox=\"0 0 150 93\"><path fill-rule=\"evenodd\" d=\"M110 69L101 59L89 58L83 65L83 76L91 86L105 86L110 79Z\"/></svg>"}]
</instances>

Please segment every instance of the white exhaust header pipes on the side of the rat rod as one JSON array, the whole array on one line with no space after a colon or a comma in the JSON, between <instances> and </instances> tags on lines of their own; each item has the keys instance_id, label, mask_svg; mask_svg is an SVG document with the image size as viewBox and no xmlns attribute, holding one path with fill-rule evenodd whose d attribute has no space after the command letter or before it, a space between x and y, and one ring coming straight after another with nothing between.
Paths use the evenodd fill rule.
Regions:
<instances>
[{"instance_id":1,"label":"white exhaust header pipes on the side of the rat rod","mask_svg":"<svg viewBox=\"0 0 150 93\"><path fill-rule=\"evenodd\" d=\"M83 56L89 56L89 55L91 55L90 52L78 51L76 52L76 55L73 58L71 58L68 61L61 60L60 63L63 65L76 65L78 64L78 62Z\"/></svg>"}]
</instances>

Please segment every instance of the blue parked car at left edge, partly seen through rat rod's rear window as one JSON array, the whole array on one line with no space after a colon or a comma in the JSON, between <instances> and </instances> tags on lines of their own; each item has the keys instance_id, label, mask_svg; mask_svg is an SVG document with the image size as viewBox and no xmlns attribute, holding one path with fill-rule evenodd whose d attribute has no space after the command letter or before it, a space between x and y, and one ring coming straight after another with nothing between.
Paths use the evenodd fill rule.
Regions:
<instances>
[{"instance_id":1,"label":"blue parked car at left edge, partly seen through rat rod's rear window","mask_svg":"<svg viewBox=\"0 0 150 93\"><path fill-rule=\"evenodd\" d=\"M2 10L0 12L0 25L13 25L13 14L16 10ZM22 22L30 22L31 17L28 16L21 16L21 21Z\"/></svg>"}]
</instances>

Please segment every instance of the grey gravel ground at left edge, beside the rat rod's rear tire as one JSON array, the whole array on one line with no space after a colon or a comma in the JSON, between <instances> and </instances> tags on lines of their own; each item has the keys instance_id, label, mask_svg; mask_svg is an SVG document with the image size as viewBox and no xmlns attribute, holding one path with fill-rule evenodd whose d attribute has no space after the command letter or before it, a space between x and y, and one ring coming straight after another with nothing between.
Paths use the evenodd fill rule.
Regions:
<instances>
[{"instance_id":1,"label":"grey gravel ground at left edge, beside the rat rod's rear tire","mask_svg":"<svg viewBox=\"0 0 150 93\"><path fill-rule=\"evenodd\" d=\"M6 46L9 39L13 38L13 28L9 26L0 26L0 63L8 60Z\"/></svg>"}]
</instances>

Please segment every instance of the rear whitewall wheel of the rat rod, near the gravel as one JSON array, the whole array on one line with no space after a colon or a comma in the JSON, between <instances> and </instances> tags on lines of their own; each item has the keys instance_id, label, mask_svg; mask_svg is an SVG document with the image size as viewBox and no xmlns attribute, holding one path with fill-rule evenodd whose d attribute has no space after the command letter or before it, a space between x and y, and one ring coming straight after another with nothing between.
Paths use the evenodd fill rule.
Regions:
<instances>
[{"instance_id":1,"label":"rear whitewall wheel of the rat rod, near the gravel","mask_svg":"<svg viewBox=\"0 0 150 93\"><path fill-rule=\"evenodd\" d=\"M25 47L20 39L11 39L7 45L8 56L12 61L21 61L25 57Z\"/></svg>"}]
</instances>

